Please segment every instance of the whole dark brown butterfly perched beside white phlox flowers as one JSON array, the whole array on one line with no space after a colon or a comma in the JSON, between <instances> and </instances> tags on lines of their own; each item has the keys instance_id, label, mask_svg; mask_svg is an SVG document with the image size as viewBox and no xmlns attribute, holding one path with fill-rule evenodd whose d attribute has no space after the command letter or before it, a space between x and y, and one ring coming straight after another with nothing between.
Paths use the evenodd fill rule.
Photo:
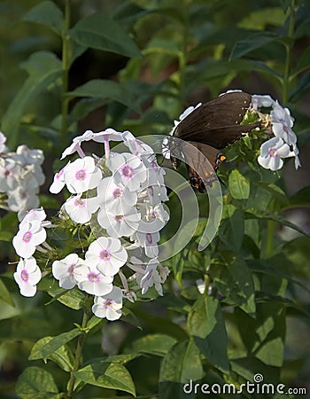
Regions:
<instances>
[{"instance_id":1,"label":"whole dark brown butterfly perched beside white phlox flowers","mask_svg":"<svg viewBox=\"0 0 310 399\"><path fill-rule=\"evenodd\" d=\"M178 168L184 160L190 184L199 192L217 179L216 170L226 159L219 150L260 126L260 122L241 124L251 101L244 91L225 93L198 106L174 129L169 142L172 166Z\"/></svg>"}]
</instances>

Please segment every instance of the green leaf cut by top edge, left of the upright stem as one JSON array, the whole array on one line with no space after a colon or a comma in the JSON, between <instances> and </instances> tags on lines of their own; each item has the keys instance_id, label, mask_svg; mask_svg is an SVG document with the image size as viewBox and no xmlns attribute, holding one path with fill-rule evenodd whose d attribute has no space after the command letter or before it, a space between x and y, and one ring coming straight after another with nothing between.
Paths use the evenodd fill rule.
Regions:
<instances>
[{"instance_id":1,"label":"green leaf cut by top edge, left of the upright stem","mask_svg":"<svg viewBox=\"0 0 310 399\"><path fill-rule=\"evenodd\" d=\"M23 17L23 20L37 22L45 27L50 27L57 35L61 35L64 26L64 15L58 6L50 1L43 1L35 5Z\"/></svg>"}]
</instances>

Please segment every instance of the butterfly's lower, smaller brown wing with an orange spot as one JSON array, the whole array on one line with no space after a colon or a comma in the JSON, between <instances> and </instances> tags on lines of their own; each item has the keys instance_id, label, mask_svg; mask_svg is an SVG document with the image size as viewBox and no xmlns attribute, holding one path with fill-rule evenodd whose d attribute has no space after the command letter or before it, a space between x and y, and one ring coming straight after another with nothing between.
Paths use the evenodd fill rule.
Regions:
<instances>
[{"instance_id":1,"label":"butterfly's lower, smaller brown wing with an orange spot","mask_svg":"<svg viewBox=\"0 0 310 399\"><path fill-rule=\"evenodd\" d=\"M183 155L189 172L190 184L199 192L205 192L205 187L212 185L217 180L215 172L221 162L225 160L225 156L210 145L195 142L190 142L190 144L198 149L198 151L187 151Z\"/></svg>"}]
</instances>

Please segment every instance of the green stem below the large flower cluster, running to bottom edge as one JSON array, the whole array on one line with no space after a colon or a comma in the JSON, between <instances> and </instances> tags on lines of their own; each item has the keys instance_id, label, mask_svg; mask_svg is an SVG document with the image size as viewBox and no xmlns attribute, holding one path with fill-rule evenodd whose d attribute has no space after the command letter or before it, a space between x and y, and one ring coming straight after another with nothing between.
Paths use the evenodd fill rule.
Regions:
<instances>
[{"instance_id":1,"label":"green stem below the large flower cluster, running to bottom edge","mask_svg":"<svg viewBox=\"0 0 310 399\"><path fill-rule=\"evenodd\" d=\"M73 364L72 371L70 373L70 379L69 379L68 387L67 387L67 394L66 394L67 399L71 399L74 395L74 384L75 384L74 372L79 370L79 368L81 366L83 347L84 347L84 343L85 343L85 340L87 337L87 333L85 332L85 329L89 322L89 318L91 316L91 311L90 311L91 300L92 300L92 298L91 298L91 296L89 296L89 299L84 308L83 318L81 321L81 335L79 336L78 341L77 341L77 345L76 345L76 349L75 349L74 364Z\"/></svg>"}]
</instances>

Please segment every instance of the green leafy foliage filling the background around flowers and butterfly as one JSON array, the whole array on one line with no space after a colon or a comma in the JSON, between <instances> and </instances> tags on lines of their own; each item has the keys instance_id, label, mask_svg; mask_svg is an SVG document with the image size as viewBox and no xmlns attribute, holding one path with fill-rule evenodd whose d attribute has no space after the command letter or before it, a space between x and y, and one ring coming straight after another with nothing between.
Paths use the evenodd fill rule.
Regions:
<instances>
[{"instance_id":1,"label":"green leafy foliage filling the background around flowers and butterfly","mask_svg":"<svg viewBox=\"0 0 310 399\"><path fill-rule=\"evenodd\" d=\"M2 2L0 11L1 129L11 150L18 144L43 149L42 203L50 212L57 203L47 187L72 137L109 126L136 137L167 134L185 106L228 89L270 94L289 106L301 156L306 151L307 1L14 0ZM255 137L227 149L234 162L219 172L226 187L217 237L198 252L208 215L198 194L201 224L189 246L167 262L174 276L164 297L130 306L128 323L90 320L81 330L74 324L81 322L82 295L72 290L50 301L50 286L40 286L35 298L20 298L7 268L0 284L1 397L95 398L121 391L204 397L185 394L183 385L192 379L240 387L256 373L264 382L309 391L309 238L301 233L306 223L286 219L288 211L309 207L308 181L292 192L299 172L259 168L260 144ZM174 231L180 209L175 197L169 202ZM4 264L16 260L10 243L16 230L14 215L5 215ZM198 293L201 278L212 286L210 295ZM81 334L87 339L77 370ZM73 369L71 396L65 393Z\"/></svg>"}]
</instances>

